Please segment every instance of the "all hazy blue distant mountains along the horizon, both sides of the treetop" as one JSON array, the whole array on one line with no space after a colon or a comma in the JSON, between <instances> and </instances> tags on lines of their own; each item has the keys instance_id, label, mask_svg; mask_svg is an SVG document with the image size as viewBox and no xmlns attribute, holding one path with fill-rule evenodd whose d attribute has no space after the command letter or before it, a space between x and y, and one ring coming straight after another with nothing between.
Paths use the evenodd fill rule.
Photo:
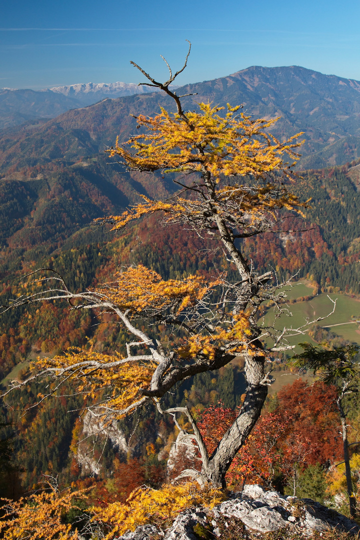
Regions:
<instances>
[{"instance_id":1,"label":"all hazy blue distant mountains along the horizon, both sides of the treetop","mask_svg":"<svg viewBox=\"0 0 360 540\"><path fill-rule=\"evenodd\" d=\"M21 118L30 120L31 114L36 121L3 131L0 170L5 173L8 166L17 170L20 163L40 165L53 159L75 162L98 155L106 145L114 143L117 134L122 140L128 137L134 126L130 114L151 115L159 111L160 105L172 110L171 100L161 93L107 98L83 107L84 100L99 101L104 95L135 89L148 87L114 83L73 85L44 92L2 91L0 116L1 111L8 114L8 127L10 116L12 125ZM276 136L288 138L304 132L302 168L342 165L360 158L360 82L356 80L322 75L298 66L253 66L228 77L188 84L179 92L196 94L184 98L184 106L192 109L200 101L220 105L242 103L244 111L255 117L281 117L271 130ZM79 108L46 123L39 119L56 116L69 107Z\"/></svg>"}]
</instances>

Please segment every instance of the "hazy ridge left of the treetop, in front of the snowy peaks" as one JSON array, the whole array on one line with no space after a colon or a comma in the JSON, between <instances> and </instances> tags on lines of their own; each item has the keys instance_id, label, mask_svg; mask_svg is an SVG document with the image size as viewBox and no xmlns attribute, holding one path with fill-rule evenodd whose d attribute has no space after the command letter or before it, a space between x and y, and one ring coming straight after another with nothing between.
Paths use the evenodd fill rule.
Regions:
<instances>
[{"instance_id":1,"label":"hazy ridge left of the treetop, in front of the snowy peaks","mask_svg":"<svg viewBox=\"0 0 360 540\"><path fill-rule=\"evenodd\" d=\"M0 138L0 171L23 172L26 176L26 167L51 168L53 163L67 165L79 157L99 158L101 154L105 159L105 146L113 144L119 133L125 140L135 129L131 114L158 109L159 95L106 99L84 109L67 111L31 132L26 126L8 130Z\"/></svg>"}]
</instances>

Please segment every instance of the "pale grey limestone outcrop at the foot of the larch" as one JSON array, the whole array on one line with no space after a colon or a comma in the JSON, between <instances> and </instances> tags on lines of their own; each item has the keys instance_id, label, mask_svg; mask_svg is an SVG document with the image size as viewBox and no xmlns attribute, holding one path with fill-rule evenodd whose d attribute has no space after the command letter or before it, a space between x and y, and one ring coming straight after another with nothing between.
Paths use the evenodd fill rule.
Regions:
<instances>
[{"instance_id":1,"label":"pale grey limestone outcrop at the foot of the larch","mask_svg":"<svg viewBox=\"0 0 360 540\"><path fill-rule=\"evenodd\" d=\"M333 528L354 535L360 532L360 527L351 519L311 499L285 497L276 491L265 491L260 485L246 485L240 494L234 494L213 510L195 508L181 512L172 527L165 532L153 525L145 525L120 538L198 540L199 528L211 532L212 538L216 538L221 537L221 527L224 524L229 527L232 523L240 524L243 530L260 533L281 530L284 539L287 538L287 532L289 535L296 534L299 539L310 536L314 531Z\"/></svg>"}]
</instances>

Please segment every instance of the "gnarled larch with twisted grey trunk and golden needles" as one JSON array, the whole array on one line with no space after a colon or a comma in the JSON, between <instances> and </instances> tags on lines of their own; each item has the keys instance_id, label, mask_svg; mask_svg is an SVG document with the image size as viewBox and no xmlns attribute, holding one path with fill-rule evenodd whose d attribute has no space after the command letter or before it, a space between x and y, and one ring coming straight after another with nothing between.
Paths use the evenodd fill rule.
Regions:
<instances>
[{"instance_id":1,"label":"gnarled larch with twisted grey trunk and golden needles","mask_svg":"<svg viewBox=\"0 0 360 540\"><path fill-rule=\"evenodd\" d=\"M191 47L191 45L190 45ZM190 48L189 48L190 52ZM242 252L241 239L269 231L281 231L284 218L300 213L305 203L291 193L291 170L298 154L298 136L281 142L269 133L275 120L253 119L241 106L224 107L199 103L185 111L171 84L187 64L172 73L165 83L157 82L137 64L148 82L173 99L174 113L161 109L155 117L138 116L138 134L124 144L107 150L128 171L176 173L180 191L168 200L144 201L121 215L110 216L113 230L132 220L158 213L165 224L179 224L210 239L214 250L222 249L236 269L236 281L214 268L213 279L191 275L164 280L144 266L129 267L113 275L112 281L95 289L74 293L62 276L45 271L38 282L44 289L20 296L6 309L32 302L65 299L71 309L111 313L129 335L126 352L98 353L71 350L53 359L38 360L33 377L53 377L50 392L71 380L84 394L102 422L113 422L140 407L155 403L158 410L172 414L179 429L179 415L192 426L186 435L199 447L201 471L187 469L180 477L191 477L201 485L225 487L225 474L237 451L260 416L267 396L265 363L271 353L290 348L287 330L277 333L259 322L263 302L273 302L281 312L283 284L272 285L272 272L259 274ZM287 229L288 232L288 229ZM43 280L43 281L42 281ZM51 285L51 280L55 286ZM50 284L50 285L49 285ZM156 322L165 325L172 342L153 335ZM294 328L291 329L294 334ZM301 330L298 329L300 333ZM266 347L264 340L273 339ZM241 410L211 455L203 443L196 421L187 407L164 410L162 398L195 374L226 366L236 356L245 360L247 392Z\"/></svg>"}]
</instances>

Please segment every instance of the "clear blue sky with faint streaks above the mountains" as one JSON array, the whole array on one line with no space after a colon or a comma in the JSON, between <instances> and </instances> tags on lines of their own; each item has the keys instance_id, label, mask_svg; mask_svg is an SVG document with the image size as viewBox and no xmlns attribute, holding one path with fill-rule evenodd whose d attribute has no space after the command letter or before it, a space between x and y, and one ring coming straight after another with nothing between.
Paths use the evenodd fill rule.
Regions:
<instances>
[{"instance_id":1,"label":"clear blue sky with faint streaks above the mountains","mask_svg":"<svg viewBox=\"0 0 360 540\"><path fill-rule=\"evenodd\" d=\"M140 82L130 60L178 84L250 65L301 65L360 80L359 0L0 0L0 87Z\"/></svg>"}]
</instances>

